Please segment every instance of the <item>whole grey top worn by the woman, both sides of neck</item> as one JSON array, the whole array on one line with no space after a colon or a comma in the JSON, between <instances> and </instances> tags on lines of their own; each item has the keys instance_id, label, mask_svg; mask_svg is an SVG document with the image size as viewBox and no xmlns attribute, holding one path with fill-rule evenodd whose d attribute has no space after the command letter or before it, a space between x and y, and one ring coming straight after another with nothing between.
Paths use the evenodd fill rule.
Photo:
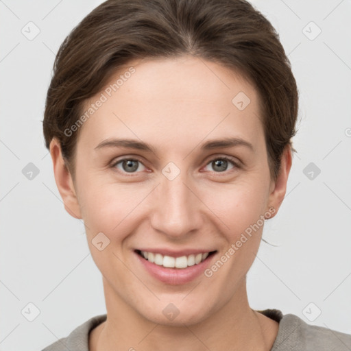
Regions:
<instances>
[{"instance_id":1,"label":"whole grey top worn by the woman, both sides of neck","mask_svg":"<svg viewBox=\"0 0 351 351\"><path fill-rule=\"evenodd\" d=\"M279 322L278 335L271 351L350 351L351 335L322 326L312 326L297 315L283 315L280 310L257 311ZM47 346L42 351L89 351L89 332L106 321L107 315L97 315L75 328L68 337Z\"/></svg>"}]
</instances>

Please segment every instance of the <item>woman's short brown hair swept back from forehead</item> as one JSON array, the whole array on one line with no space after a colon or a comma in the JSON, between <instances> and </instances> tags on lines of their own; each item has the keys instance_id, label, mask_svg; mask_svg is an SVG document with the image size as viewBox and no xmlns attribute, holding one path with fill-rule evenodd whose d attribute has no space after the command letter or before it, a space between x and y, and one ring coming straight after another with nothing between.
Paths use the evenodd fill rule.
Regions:
<instances>
[{"instance_id":1,"label":"woman's short brown hair swept back from forehead","mask_svg":"<svg viewBox=\"0 0 351 351\"><path fill-rule=\"evenodd\" d=\"M75 175L82 128L71 128L86 99L99 93L121 65L138 58L188 54L233 69L258 90L271 178L296 134L298 88L278 33L244 0L108 0L64 39L47 91L43 132L49 149L58 138Z\"/></svg>"}]
</instances>

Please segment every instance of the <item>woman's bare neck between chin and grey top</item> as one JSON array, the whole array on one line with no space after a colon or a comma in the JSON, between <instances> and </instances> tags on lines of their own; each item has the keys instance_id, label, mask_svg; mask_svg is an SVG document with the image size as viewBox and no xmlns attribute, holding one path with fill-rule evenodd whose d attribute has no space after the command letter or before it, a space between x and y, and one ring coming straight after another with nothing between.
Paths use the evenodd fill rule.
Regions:
<instances>
[{"instance_id":1,"label":"woman's bare neck between chin and grey top","mask_svg":"<svg viewBox=\"0 0 351 351\"><path fill-rule=\"evenodd\" d=\"M90 332L90 351L269 351L279 324L250 308L246 281L208 318L193 324L156 324L138 314L104 280L107 319ZM210 332L208 332L210 330ZM176 340L176 343L175 343Z\"/></svg>"}]
</instances>

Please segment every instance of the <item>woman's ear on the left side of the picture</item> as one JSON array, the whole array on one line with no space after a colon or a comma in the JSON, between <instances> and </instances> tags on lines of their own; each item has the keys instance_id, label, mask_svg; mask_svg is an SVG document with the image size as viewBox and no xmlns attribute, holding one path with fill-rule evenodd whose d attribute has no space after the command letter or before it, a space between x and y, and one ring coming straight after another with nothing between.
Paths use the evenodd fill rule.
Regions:
<instances>
[{"instance_id":1,"label":"woman's ear on the left side of the picture","mask_svg":"<svg viewBox=\"0 0 351 351\"><path fill-rule=\"evenodd\" d=\"M56 185L64 203L64 209L77 219L81 219L80 206L75 193L73 180L68 167L62 157L61 145L57 138L53 138L50 143L50 154L53 162L53 173Z\"/></svg>"}]
</instances>

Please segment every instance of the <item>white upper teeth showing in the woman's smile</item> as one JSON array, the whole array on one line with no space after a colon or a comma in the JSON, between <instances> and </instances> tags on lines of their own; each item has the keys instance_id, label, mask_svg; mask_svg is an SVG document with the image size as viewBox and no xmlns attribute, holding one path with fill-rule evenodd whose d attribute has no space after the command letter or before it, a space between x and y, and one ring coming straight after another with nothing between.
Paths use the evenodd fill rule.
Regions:
<instances>
[{"instance_id":1,"label":"white upper teeth showing in the woman's smile","mask_svg":"<svg viewBox=\"0 0 351 351\"><path fill-rule=\"evenodd\" d=\"M208 252L205 254L191 254L189 256L181 256L176 258L146 251L141 251L141 254L147 259L147 261L169 268L186 268L197 265L198 263L204 261L204 259L208 256Z\"/></svg>"}]
</instances>

